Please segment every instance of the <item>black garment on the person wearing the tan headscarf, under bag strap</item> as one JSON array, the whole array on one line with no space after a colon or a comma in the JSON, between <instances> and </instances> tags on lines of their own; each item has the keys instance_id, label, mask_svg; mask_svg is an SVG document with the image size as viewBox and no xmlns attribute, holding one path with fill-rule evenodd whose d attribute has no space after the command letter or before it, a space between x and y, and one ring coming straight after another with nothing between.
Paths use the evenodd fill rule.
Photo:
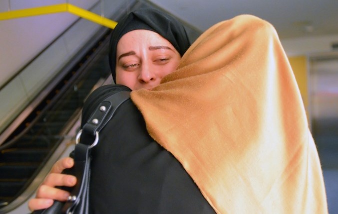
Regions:
<instances>
[{"instance_id":1,"label":"black garment on the person wearing the tan headscarf, under bag strap","mask_svg":"<svg viewBox=\"0 0 338 214\"><path fill-rule=\"evenodd\" d=\"M83 121L107 96L126 87L96 90ZM119 107L92 150L90 209L93 214L215 213L176 158L148 134L131 100Z\"/></svg>"}]
</instances>

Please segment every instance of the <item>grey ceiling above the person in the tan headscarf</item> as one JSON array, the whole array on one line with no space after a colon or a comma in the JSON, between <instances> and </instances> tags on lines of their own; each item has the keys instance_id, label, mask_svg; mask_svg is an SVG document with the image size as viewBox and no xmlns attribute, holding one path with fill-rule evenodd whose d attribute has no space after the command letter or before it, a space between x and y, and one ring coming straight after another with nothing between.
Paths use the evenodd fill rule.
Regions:
<instances>
[{"instance_id":1,"label":"grey ceiling above the person in the tan headscarf","mask_svg":"<svg viewBox=\"0 0 338 214\"><path fill-rule=\"evenodd\" d=\"M338 0L150 0L197 29L239 14L272 23L281 39L338 34Z\"/></svg>"}]
</instances>

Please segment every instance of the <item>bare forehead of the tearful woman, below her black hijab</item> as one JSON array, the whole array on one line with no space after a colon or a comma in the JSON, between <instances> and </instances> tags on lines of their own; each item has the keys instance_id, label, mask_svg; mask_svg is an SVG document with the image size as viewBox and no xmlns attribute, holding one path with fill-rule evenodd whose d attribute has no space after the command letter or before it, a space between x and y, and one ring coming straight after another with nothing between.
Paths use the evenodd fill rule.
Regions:
<instances>
[{"instance_id":1,"label":"bare forehead of the tearful woman, below her black hijab","mask_svg":"<svg viewBox=\"0 0 338 214\"><path fill-rule=\"evenodd\" d=\"M124 34L117 43L117 52L137 46L165 45L173 50L173 45L160 34L151 30L132 30Z\"/></svg>"}]
</instances>

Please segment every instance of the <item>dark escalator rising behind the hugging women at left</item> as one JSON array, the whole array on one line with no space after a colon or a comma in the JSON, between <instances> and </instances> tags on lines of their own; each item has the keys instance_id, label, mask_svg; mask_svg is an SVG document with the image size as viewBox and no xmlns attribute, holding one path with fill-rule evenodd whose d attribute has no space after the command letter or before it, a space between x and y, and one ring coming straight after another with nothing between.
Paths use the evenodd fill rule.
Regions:
<instances>
[{"instance_id":1,"label":"dark escalator rising behind the hugging women at left","mask_svg":"<svg viewBox=\"0 0 338 214\"><path fill-rule=\"evenodd\" d=\"M34 181L78 120L86 97L110 76L108 34L0 145L0 213Z\"/></svg>"}]
</instances>

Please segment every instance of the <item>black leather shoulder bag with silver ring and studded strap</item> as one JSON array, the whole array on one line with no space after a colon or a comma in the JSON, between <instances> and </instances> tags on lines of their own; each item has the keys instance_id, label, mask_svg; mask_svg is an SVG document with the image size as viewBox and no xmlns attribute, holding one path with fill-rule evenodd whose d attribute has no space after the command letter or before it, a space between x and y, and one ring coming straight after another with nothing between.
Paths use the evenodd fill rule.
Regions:
<instances>
[{"instance_id":1,"label":"black leather shoulder bag with silver ring and studded strap","mask_svg":"<svg viewBox=\"0 0 338 214\"><path fill-rule=\"evenodd\" d=\"M129 98L129 91L120 91L96 107L76 136L75 149L70 155L74 158L74 166L62 172L77 178L68 200L55 201L50 208L34 211L33 214L89 214L90 150L99 142L100 130L112 118L116 109Z\"/></svg>"}]
</instances>

